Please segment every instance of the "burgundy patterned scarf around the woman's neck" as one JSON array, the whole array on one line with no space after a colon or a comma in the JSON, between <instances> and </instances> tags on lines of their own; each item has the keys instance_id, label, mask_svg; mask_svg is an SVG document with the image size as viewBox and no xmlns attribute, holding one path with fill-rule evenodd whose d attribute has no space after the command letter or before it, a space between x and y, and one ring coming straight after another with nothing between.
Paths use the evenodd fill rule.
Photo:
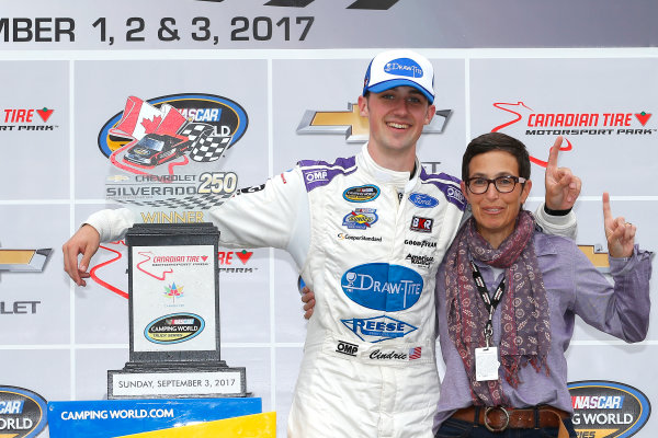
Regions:
<instances>
[{"instance_id":1,"label":"burgundy patterned scarf around the woman's neck","mask_svg":"<svg viewBox=\"0 0 658 438\"><path fill-rule=\"evenodd\" d=\"M485 347L488 312L478 293L469 261L504 268L506 291L497 312L501 312L499 347L502 376L513 387L519 384L519 370L531 364L535 371L545 369L551 348L548 301L535 254L534 218L521 210L517 224L498 249L477 232L475 219L466 221L457 233L445 260L447 326L470 382L475 405L509 405L500 381L475 379L475 348Z\"/></svg>"}]
</instances>

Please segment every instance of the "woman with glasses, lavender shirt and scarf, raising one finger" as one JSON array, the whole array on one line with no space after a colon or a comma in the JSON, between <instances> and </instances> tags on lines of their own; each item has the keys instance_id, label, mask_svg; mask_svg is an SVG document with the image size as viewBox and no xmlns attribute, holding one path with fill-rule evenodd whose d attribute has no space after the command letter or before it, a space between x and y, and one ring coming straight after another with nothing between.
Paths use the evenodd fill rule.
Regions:
<instances>
[{"instance_id":1,"label":"woman with glasses, lavender shirt and scarf, raising one finger","mask_svg":"<svg viewBox=\"0 0 658 438\"><path fill-rule=\"evenodd\" d=\"M530 188L523 143L491 132L464 153L462 191L473 212L436 279L445 361L439 437L576 437L565 350L579 315L628 343L649 322L651 253L635 227L603 217L612 286L570 240L548 235L522 209Z\"/></svg>"}]
</instances>

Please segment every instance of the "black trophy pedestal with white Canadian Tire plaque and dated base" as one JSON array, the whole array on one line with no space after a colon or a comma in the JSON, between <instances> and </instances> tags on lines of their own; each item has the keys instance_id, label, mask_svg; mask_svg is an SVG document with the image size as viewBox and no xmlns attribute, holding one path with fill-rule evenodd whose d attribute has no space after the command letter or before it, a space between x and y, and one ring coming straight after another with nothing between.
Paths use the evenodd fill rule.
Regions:
<instances>
[{"instance_id":1,"label":"black trophy pedestal with white Canadian Tire plaque and dated base","mask_svg":"<svg viewBox=\"0 0 658 438\"><path fill-rule=\"evenodd\" d=\"M205 222L128 230L129 361L107 371L107 399L249 395L219 354L218 240Z\"/></svg>"}]
</instances>

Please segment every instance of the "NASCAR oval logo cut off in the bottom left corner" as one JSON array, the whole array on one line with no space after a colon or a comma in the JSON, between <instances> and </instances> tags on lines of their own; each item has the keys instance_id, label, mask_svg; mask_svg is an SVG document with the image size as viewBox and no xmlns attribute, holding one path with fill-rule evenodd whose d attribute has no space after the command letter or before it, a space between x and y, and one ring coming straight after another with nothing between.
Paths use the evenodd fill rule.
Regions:
<instances>
[{"instance_id":1,"label":"NASCAR oval logo cut off in the bottom left corner","mask_svg":"<svg viewBox=\"0 0 658 438\"><path fill-rule=\"evenodd\" d=\"M0 387L0 437L36 437L46 423L44 397L23 388Z\"/></svg>"}]
</instances>

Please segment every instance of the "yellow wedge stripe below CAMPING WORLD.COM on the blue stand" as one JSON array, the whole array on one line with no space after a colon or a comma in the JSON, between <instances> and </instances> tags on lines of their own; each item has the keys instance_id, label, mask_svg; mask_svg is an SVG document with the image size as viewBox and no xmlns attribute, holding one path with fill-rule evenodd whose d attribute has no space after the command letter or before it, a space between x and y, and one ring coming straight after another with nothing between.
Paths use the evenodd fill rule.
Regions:
<instances>
[{"instance_id":1,"label":"yellow wedge stripe below CAMPING WORLD.COM on the blue stand","mask_svg":"<svg viewBox=\"0 0 658 438\"><path fill-rule=\"evenodd\" d=\"M124 435L116 438L275 438L276 413L245 415L172 429Z\"/></svg>"}]
</instances>

